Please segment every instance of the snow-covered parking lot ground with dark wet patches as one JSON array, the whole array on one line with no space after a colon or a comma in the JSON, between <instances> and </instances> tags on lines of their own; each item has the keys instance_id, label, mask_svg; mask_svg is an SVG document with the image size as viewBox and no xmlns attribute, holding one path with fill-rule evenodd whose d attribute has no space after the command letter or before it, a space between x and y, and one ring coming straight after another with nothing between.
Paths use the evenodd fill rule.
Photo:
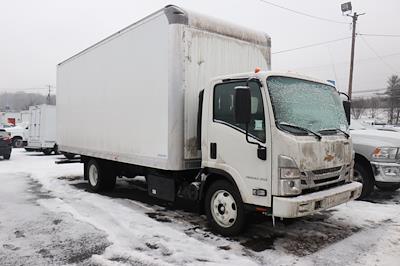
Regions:
<instances>
[{"instance_id":1,"label":"snow-covered parking lot ground with dark wet patches","mask_svg":"<svg viewBox=\"0 0 400 266\"><path fill-rule=\"evenodd\" d=\"M160 202L142 180L94 194L83 165L14 149L0 159L0 265L399 265L400 191L296 219L252 216L211 233L190 202Z\"/></svg>"}]
</instances>

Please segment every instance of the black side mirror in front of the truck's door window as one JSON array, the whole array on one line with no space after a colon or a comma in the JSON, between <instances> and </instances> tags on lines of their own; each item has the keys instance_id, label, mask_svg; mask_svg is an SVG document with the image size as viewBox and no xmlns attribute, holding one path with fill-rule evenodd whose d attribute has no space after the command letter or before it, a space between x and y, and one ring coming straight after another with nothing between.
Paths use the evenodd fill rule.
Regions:
<instances>
[{"instance_id":1,"label":"black side mirror in front of the truck's door window","mask_svg":"<svg viewBox=\"0 0 400 266\"><path fill-rule=\"evenodd\" d=\"M235 87L235 122L238 124L249 124L251 120L251 96L250 88L247 86Z\"/></svg>"}]
</instances>

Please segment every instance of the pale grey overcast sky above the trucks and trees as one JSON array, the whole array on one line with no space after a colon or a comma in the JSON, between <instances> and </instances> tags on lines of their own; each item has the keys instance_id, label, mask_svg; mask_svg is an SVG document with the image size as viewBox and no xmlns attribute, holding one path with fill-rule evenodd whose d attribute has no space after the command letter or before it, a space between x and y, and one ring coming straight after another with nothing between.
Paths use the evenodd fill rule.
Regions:
<instances>
[{"instance_id":1,"label":"pale grey overcast sky above the trucks and trees","mask_svg":"<svg viewBox=\"0 0 400 266\"><path fill-rule=\"evenodd\" d=\"M327 19L346 0L268 0ZM268 33L272 53L351 36L350 24L302 16L260 0L0 0L0 92L56 85L56 64L167 4ZM353 0L359 33L400 35L400 1ZM336 80L347 91L351 40L272 55L272 69ZM399 37L358 37L354 92L400 73ZM40 90L37 90L38 92Z\"/></svg>"}]
</instances>

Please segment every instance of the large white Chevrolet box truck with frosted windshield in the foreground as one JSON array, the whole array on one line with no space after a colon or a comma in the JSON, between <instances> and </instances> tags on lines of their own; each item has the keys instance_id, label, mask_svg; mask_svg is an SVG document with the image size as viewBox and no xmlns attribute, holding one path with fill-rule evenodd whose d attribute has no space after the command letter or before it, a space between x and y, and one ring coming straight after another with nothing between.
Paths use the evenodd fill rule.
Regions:
<instances>
[{"instance_id":1,"label":"large white Chevrolet box truck with frosted windshield in the foreground","mask_svg":"<svg viewBox=\"0 0 400 266\"><path fill-rule=\"evenodd\" d=\"M198 202L223 235L248 211L294 218L357 198L338 92L269 71L270 48L167 6L58 65L60 150L81 155L93 191L145 176L149 195Z\"/></svg>"}]
</instances>

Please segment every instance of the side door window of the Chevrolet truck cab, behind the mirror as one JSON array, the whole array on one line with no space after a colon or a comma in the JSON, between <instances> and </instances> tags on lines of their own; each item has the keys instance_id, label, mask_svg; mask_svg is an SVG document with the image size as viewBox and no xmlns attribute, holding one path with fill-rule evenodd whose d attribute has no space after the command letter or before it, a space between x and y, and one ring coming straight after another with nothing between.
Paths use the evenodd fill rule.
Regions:
<instances>
[{"instance_id":1,"label":"side door window of the Chevrolet truck cab, behind the mirror","mask_svg":"<svg viewBox=\"0 0 400 266\"><path fill-rule=\"evenodd\" d=\"M246 125L236 124L234 118L235 87L246 86L245 81L226 82L214 87L214 122L246 130ZM249 82L251 94L251 121L249 134L265 142L265 117L261 88L257 82Z\"/></svg>"}]
</instances>

